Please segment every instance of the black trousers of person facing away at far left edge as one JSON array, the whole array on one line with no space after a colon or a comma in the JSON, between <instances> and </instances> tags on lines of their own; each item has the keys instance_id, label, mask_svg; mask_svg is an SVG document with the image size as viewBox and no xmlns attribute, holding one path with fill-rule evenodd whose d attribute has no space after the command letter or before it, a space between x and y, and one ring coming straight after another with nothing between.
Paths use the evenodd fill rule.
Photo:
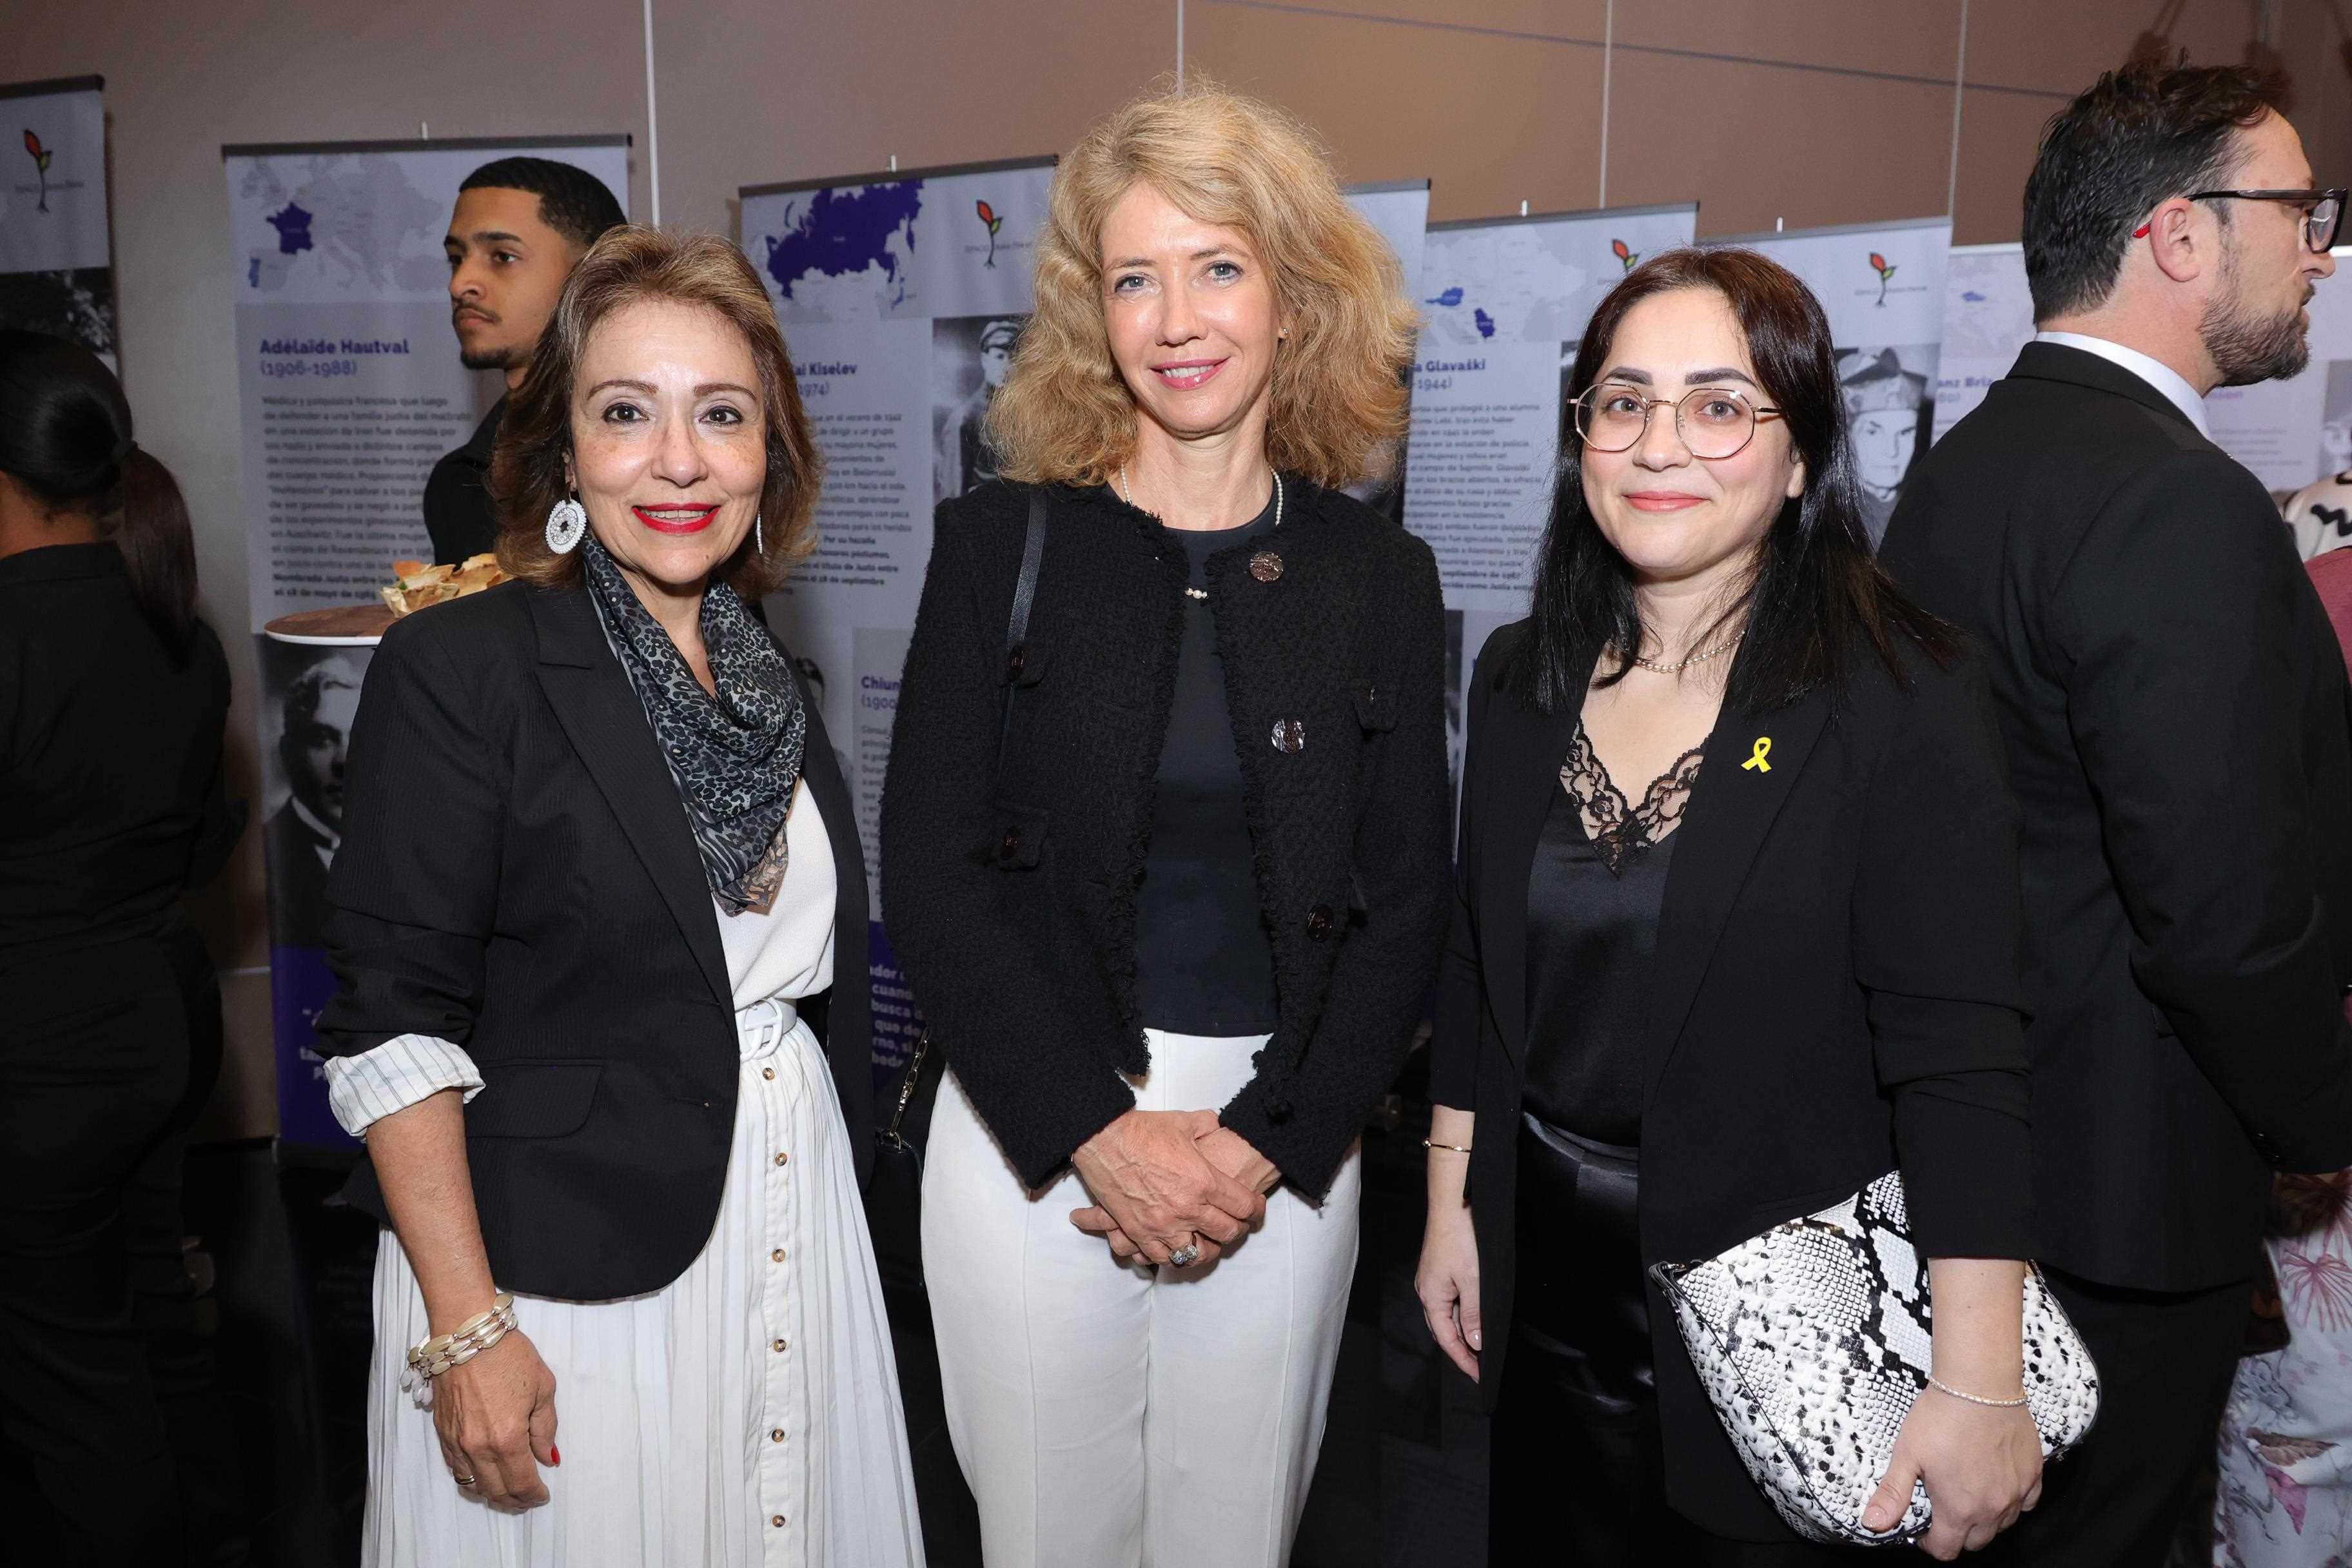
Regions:
<instances>
[{"instance_id":1,"label":"black trousers of person facing away at far left edge","mask_svg":"<svg viewBox=\"0 0 2352 1568\"><path fill-rule=\"evenodd\" d=\"M45 954L0 969L0 1434L49 1514L24 1523L64 1563L233 1552L179 1204L221 1065L212 969L186 931Z\"/></svg>"}]
</instances>

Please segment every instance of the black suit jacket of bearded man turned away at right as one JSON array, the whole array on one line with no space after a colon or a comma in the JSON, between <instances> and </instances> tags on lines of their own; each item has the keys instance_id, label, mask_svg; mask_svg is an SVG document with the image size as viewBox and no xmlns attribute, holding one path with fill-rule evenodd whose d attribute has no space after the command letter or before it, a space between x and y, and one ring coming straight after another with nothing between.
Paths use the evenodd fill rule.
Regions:
<instances>
[{"instance_id":1,"label":"black suit jacket of bearded man turned away at right","mask_svg":"<svg viewBox=\"0 0 2352 1568\"><path fill-rule=\"evenodd\" d=\"M2246 1276L2265 1166L2352 1164L2352 719L2279 510L2152 386L2030 343L1886 564L1980 639L2025 811L2042 1258Z\"/></svg>"}]
</instances>

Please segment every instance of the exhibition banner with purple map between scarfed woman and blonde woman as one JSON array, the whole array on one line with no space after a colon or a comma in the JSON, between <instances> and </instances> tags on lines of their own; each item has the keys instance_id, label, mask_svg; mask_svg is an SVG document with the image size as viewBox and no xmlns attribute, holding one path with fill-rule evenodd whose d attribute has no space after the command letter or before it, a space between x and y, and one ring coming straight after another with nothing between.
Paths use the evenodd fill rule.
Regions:
<instances>
[{"instance_id":1,"label":"exhibition banner with purple map between scarfed woman and blonde woman","mask_svg":"<svg viewBox=\"0 0 2352 1568\"><path fill-rule=\"evenodd\" d=\"M898 670L931 559L931 508L995 477L983 421L1028 322L1051 183L1054 160L1028 158L741 190L743 254L776 306L826 454L816 552L767 607L856 799L875 900L877 1088L920 1030L880 900Z\"/></svg>"}]
</instances>

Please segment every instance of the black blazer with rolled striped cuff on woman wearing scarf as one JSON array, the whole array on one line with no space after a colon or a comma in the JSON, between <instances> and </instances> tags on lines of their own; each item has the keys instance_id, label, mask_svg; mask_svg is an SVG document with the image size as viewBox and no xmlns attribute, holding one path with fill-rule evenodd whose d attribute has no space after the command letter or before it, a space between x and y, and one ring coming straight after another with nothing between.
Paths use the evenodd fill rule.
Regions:
<instances>
[{"instance_id":1,"label":"black blazer with rolled striped cuff on woman wearing scarf","mask_svg":"<svg viewBox=\"0 0 2352 1568\"><path fill-rule=\"evenodd\" d=\"M863 1178L866 858L807 710L840 898L833 990L802 1013ZM435 1034L482 1072L466 1159L499 1286L612 1300L677 1279L727 1178L734 1001L684 802L586 590L508 583L393 625L350 731L327 896L341 990L320 1048ZM350 1197L388 1218L372 1166Z\"/></svg>"}]
</instances>

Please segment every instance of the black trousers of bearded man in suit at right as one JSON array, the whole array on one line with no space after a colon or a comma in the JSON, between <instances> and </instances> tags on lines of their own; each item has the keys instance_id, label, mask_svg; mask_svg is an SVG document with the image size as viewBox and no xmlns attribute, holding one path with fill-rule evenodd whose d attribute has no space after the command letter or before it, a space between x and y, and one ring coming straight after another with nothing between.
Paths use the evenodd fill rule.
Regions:
<instances>
[{"instance_id":1,"label":"black trousers of bearded man in suit at right","mask_svg":"<svg viewBox=\"0 0 2352 1568\"><path fill-rule=\"evenodd\" d=\"M2246 1338L2251 1281L2216 1291L2126 1291L2044 1265L2098 1363L2098 1420L2051 1465L2042 1505L2009 1533L2030 1568L2164 1568L2190 1479L2213 1453Z\"/></svg>"}]
</instances>

